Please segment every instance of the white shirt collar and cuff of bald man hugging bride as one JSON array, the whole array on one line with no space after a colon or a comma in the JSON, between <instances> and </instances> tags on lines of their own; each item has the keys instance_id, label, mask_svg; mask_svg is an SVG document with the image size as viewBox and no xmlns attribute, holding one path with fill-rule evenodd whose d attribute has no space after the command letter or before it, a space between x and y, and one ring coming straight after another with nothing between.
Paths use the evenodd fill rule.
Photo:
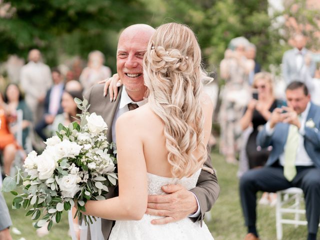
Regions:
<instances>
[{"instance_id":1,"label":"white shirt collar and cuff of bald man hugging bride","mask_svg":"<svg viewBox=\"0 0 320 240\"><path fill-rule=\"evenodd\" d=\"M115 142L115 122L116 120L118 119L118 117L123 114L124 112L127 112L129 111L129 108L128 108L128 103L136 103L138 106L142 106L144 105L145 103L147 103L147 99L143 99L142 101L138 101L138 102L135 102L135 101L132 101L132 99L129 97L128 93L126 92L125 90L125 87L123 86L122 88L122 91L121 91L121 98L120 98L120 101L118 103L118 107L115 111L115 114L114 114L114 117L113 117L113 121L112 121L112 141ZM196 199L196 203L198 205L198 209L195 213L189 215L189 217L197 217L200 215L200 204L199 204L199 201L198 201L198 198L196 197L196 195L191 192L195 199Z\"/></svg>"}]
</instances>

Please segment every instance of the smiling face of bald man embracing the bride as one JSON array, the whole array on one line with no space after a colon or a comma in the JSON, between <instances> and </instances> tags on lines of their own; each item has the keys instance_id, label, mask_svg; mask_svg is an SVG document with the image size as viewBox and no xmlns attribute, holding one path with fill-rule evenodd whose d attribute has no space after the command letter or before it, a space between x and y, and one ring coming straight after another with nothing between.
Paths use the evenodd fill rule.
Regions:
<instances>
[{"instance_id":1,"label":"smiling face of bald man embracing the bride","mask_svg":"<svg viewBox=\"0 0 320 240\"><path fill-rule=\"evenodd\" d=\"M116 53L117 73L130 96L146 90L143 83L142 60L151 34L139 29L125 30L120 35ZM141 99L142 100L142 99Z\"/></svg>"}]
</instances>

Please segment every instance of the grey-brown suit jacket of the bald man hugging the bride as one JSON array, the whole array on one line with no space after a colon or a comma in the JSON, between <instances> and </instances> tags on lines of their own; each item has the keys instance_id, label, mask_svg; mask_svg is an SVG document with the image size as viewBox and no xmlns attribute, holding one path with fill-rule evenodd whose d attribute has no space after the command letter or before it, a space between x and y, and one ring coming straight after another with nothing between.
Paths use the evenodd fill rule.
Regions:
<instances>
[{"instance_id":1,"label":"grey-brown suit jacket of the bald man hugging the bride","mask_svg":"<svg viewBox=\"0 0 320 240\"><path fill-rule=\"evenodd\" d=\"M85 98L88 100L90 107L89 112L95 112L98 115L101 115L108 125L107 131L107 140L109 142L112 141L112 121L117 109L119 99L121 96L121 90L119 90L118 97L115 101L110 102L108 96L103 96L103 84L95 84L90 90L87 91ZM210 157L210 149L208 148L208 159L205 162L205 166L212 168L211 157ZM219 185L217 182L215 171L213 174L201 170L199 179L197 181L197 185L195 188L191 189L200 205L200 215L197 218L191 218L193 221L200 220L202 221L204 218L204 213L211 209L212 204L216 201L219 195ZM109 192L107 194L107 198L111 198L117 195L117 187L109 187ZM114 224L114 221L101 219L102 222L102 233L104 239L108 239L109 234L111 232L111 228ZM89 231L88 231L89 232ZM88 237L90 239L90 237Z\"/></svg>"}]
</instances>

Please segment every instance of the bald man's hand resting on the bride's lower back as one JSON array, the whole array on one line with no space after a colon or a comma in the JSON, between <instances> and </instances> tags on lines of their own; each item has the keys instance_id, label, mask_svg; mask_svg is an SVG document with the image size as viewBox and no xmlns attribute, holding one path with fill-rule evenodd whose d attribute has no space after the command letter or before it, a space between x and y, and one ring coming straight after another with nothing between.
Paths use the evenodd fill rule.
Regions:
<instances>
[{"instance_id":1,"label":"bald man's hand resting on the bride's lower back","mask_svg":"<svg viewBox=\"0 0 320 240\"><path fill-rule=\"evenodd\" d=\"M162 186L166 195L149 195L146 208L147 214L163 216L153 219L152 224L166 224L181 220L196 212L197 202L192 192L179 184Z\"/></svg>"}]
</instances>

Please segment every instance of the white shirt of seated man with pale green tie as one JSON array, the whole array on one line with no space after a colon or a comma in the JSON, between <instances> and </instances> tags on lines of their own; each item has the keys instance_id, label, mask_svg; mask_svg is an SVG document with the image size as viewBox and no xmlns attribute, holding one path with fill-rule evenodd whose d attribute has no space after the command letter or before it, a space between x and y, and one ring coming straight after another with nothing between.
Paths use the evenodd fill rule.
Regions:
<instances>
[{"instance_id":1,"label":"white shirt of seated man with pale green tie","mask_svg":"<svg viewBox=\"0 0 320 240\"><path fill-rule=\"evenodd\" d=\"M309 109L310 109L310 102L308 102L308 104L306 105L305 110L301 113L300 116L300 123L301 126L299 128L299 143L298 143L298 147L296 149L296 157L295 157L295 165L296 166L311 166L313 165L313 162L311 160L311 158L309 157L309 155L307 154L307 152L305 151L304 148L304 139L303 139L303 135L304 135L304 125L305 125L305 121L306 121L306 117L309 113ZM265 125L265 131L267 135L272 135L274 132L274 127L271 128L270 127L270 122L267 121L266 125ZM285 146L284 146L285 147ZM279 163L280 165L284 165L284 151L280 154L279 156Z\"/></svg>"}]
</instances>

